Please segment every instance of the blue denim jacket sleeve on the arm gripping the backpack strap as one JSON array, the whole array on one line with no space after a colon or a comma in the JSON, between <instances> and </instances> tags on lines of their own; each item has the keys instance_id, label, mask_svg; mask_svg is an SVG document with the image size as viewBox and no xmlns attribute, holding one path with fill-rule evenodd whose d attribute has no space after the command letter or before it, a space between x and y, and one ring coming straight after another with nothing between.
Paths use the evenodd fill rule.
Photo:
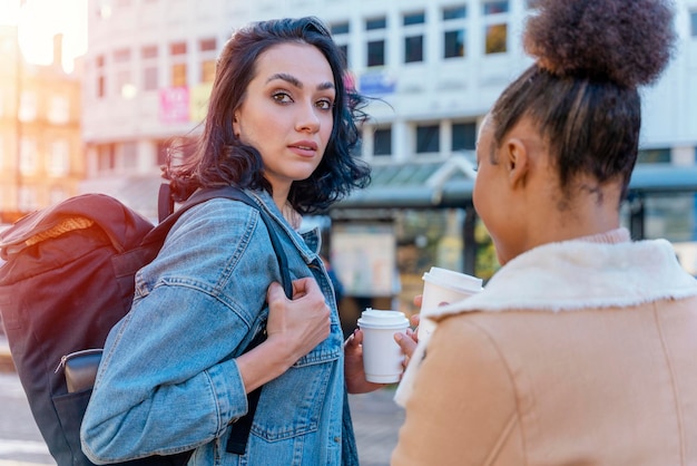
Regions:
<instances>
[{"instance_id":1,"label":"blue denim jacket sleeve on the arm gripping the backpack strap","mask_svg":"<svg viewBox=\"0 0 697 466\"><path fill-rule=\"evenodd\" d=\"M187 212L109 333L82 421L86 455L104 463L184 452L243 416L234 356L267 311L276 275L254 210L215 200Z\"/></svg>"}]
</instances>

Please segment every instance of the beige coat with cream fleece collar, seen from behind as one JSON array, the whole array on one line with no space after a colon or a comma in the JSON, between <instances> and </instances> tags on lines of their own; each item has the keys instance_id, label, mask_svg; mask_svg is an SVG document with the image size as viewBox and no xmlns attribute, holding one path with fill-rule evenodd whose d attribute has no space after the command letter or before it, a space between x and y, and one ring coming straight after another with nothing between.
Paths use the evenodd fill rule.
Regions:
<instances>
[{"instance_id":1,"label":"beige coat with cream fleece collar, seen from behind","mask_svg":"<svg viewBox=\"0 0 697 466\"><path fill-rule=\"evenodd\" d=\"M669 243L540 246L442 313L393 465L697 465L697 281Z\"/></svg>"}]
</instances>

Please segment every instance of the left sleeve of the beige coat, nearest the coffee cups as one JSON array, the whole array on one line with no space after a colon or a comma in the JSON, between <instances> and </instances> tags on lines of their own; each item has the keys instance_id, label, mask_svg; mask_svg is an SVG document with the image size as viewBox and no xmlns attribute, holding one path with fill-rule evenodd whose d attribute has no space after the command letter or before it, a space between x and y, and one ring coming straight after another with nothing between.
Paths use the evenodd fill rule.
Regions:
<instances>
[{"instance_id":1,"label":"left sleeve of the beige coat, nearest the coffee cups","mask_svg":"<svg viewBox=\"0 0 697 466\"><path fill-rule=\"evenodd\" d=\"M405 410L392 465L524 463L508 367L468 315L439 324Z\"/></svg>"}]
</instances>

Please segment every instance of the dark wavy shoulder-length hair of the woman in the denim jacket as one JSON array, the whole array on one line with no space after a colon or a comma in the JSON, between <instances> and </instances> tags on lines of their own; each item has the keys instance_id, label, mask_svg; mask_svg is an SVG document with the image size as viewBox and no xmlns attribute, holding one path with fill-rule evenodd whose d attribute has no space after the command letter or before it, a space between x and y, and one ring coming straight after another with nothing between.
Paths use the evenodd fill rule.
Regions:
<instances>
[{"instance_id":1,"label":"dark wavy shoulder-length hair of the woman in the denim jacket","mask_svg":"<svg viewBox=\"0 0 697 466\"><path fill-rule=\"evenodd\" d=\"M193 142L189 157L170 157L164 167L164 177L170 181L177 201L198 187L228 184L271 193L262 156L235 137L233 116L256 74L259 56L287 42L316 47L332 68L336 88L334 126L322 162L307 179L293 183L288 202L302 214L322 212L353 188L370 183L369 165L352 154L360 140L359 125L366 118L365 99L355 89L346 88L342 51L317 18L286 18L251 23L225 43L216 65L203 133Z\"/></svg>"}]
</instances>

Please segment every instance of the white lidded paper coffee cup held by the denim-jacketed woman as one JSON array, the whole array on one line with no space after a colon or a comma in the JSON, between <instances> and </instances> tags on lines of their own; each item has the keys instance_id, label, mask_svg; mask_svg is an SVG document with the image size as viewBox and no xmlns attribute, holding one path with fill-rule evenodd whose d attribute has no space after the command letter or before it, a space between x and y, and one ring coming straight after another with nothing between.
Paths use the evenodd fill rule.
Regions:
<instances>
[{"instance_id":1,"label":"white lidded paper coffee cup held by the denim-jacketed woman","mask_svg":"<svg viewBox=\"0 0 697 466\"><path fill-rule=\"evenodd\" d=\"M365 379L376 384L400 381L404 353L394 341L395 332L409 328L403 312L367 308L359 319L363 331L363 369Z\"/></svg>"}]
</instances>

